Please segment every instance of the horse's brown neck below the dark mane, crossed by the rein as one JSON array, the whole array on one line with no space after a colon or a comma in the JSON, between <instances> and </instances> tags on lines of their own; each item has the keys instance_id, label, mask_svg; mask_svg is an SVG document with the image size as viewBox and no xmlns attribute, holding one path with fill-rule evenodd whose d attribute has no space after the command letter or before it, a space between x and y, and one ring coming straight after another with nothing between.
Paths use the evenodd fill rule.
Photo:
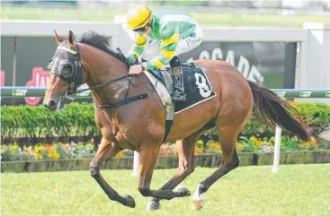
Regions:
<instances>
[{"instance_id":1,"label":"horse's brown neck below the dark mane, crossed by the rein","mask_svg":"<svg viewBox=\"0 0 330 216\"><path fill-rule=\"evenodd\" d=\"M82 61L88 71L86 83L90 88L128 74L127 65L114 56L85 44L79 44L79 48ZM118 101L128 87L128 79L123 79L92 91L97 102L105 105Z\"/></svg>"}]
</instances>

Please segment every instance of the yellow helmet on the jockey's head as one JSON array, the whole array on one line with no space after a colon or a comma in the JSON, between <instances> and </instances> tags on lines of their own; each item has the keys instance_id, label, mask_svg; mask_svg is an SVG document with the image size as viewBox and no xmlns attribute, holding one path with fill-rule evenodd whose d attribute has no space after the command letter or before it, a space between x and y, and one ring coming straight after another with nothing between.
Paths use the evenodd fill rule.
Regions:
<instances>
[{"instance_id":1,"label":"yellow helmet on the jockey's head","mask_svg":"<svg viewBox=\"0 0 330 216\"><path fill-rule=\"evenodd\" d=\"M130 9L126 13L126 21L129 30L137 30L146 27L147 23L152 20L153 14L147 6L138 6Z\"/></svg>"}]
</instances>

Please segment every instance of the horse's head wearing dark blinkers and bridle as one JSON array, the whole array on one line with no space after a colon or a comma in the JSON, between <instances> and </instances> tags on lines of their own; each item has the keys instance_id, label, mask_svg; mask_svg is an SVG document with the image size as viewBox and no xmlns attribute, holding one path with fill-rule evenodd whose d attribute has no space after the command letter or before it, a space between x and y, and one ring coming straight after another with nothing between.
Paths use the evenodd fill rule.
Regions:
<instances>
[{"instance_id":1,"label":"horse's head wearing dark blinkers and bridle","mask_svg":"<svg viewBox=\"0 0 330 216\"><path fill-rule=\"evenodd\" d=\"M43 99L43 105L51 110L64 108L68 96L85 83L87 77L73 32L70 30L64 40L55 31L55 39L58 48L51 60L49 86Z\"/></svg>"}]
</instances>

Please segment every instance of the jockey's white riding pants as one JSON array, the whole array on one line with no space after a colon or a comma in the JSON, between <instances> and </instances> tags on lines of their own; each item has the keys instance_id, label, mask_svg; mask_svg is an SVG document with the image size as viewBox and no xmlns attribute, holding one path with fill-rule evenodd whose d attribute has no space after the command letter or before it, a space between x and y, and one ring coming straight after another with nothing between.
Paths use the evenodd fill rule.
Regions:
<instances>
[{"instance_id":1,"label":"jockey's white riding pants","mask_svg":"<svg viewBox=\"0 0 330 216\"><path fill-rule=\"evenodd\" d=\"M201 45L201 41L203 39L203 31L201 30L200 25L196 25L195 30L192 32L190 36L184 39L179 39L178 44L175 49L175 56L179 56L180 54L187 53L194 48L197 48ZM154 40L145 48L144 53L142 55L143 59L146 61L150 61L156 56L160 54L160 41Z\"/></svg>"}]
</instances>

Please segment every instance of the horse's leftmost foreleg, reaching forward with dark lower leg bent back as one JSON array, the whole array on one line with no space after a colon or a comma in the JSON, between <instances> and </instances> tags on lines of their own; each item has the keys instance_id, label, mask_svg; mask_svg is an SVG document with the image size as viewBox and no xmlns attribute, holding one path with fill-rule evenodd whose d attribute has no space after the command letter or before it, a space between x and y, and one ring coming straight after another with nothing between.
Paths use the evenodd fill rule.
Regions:
<instances>
[{"instance_id":1,"label":"horse's leftmost foreleg, reaching forward with dark lower leg bent back","mask_svg":"<svg viewBox=\"0 0 330 216\"><path fill-rule=\"evenodd\" d=\"M130 195L120 196L120 194L118 194L114 189L111 188L111 186L109 186L109 184L104 180L100 173L100 168L103 163L113 158L119 151L122 151L122 148L120 148L115 143L111 143L110 141L103 138L99 149L90 164L91 175L111 200L134 208L134 199Z\"/></svg>"}]
</instances>

